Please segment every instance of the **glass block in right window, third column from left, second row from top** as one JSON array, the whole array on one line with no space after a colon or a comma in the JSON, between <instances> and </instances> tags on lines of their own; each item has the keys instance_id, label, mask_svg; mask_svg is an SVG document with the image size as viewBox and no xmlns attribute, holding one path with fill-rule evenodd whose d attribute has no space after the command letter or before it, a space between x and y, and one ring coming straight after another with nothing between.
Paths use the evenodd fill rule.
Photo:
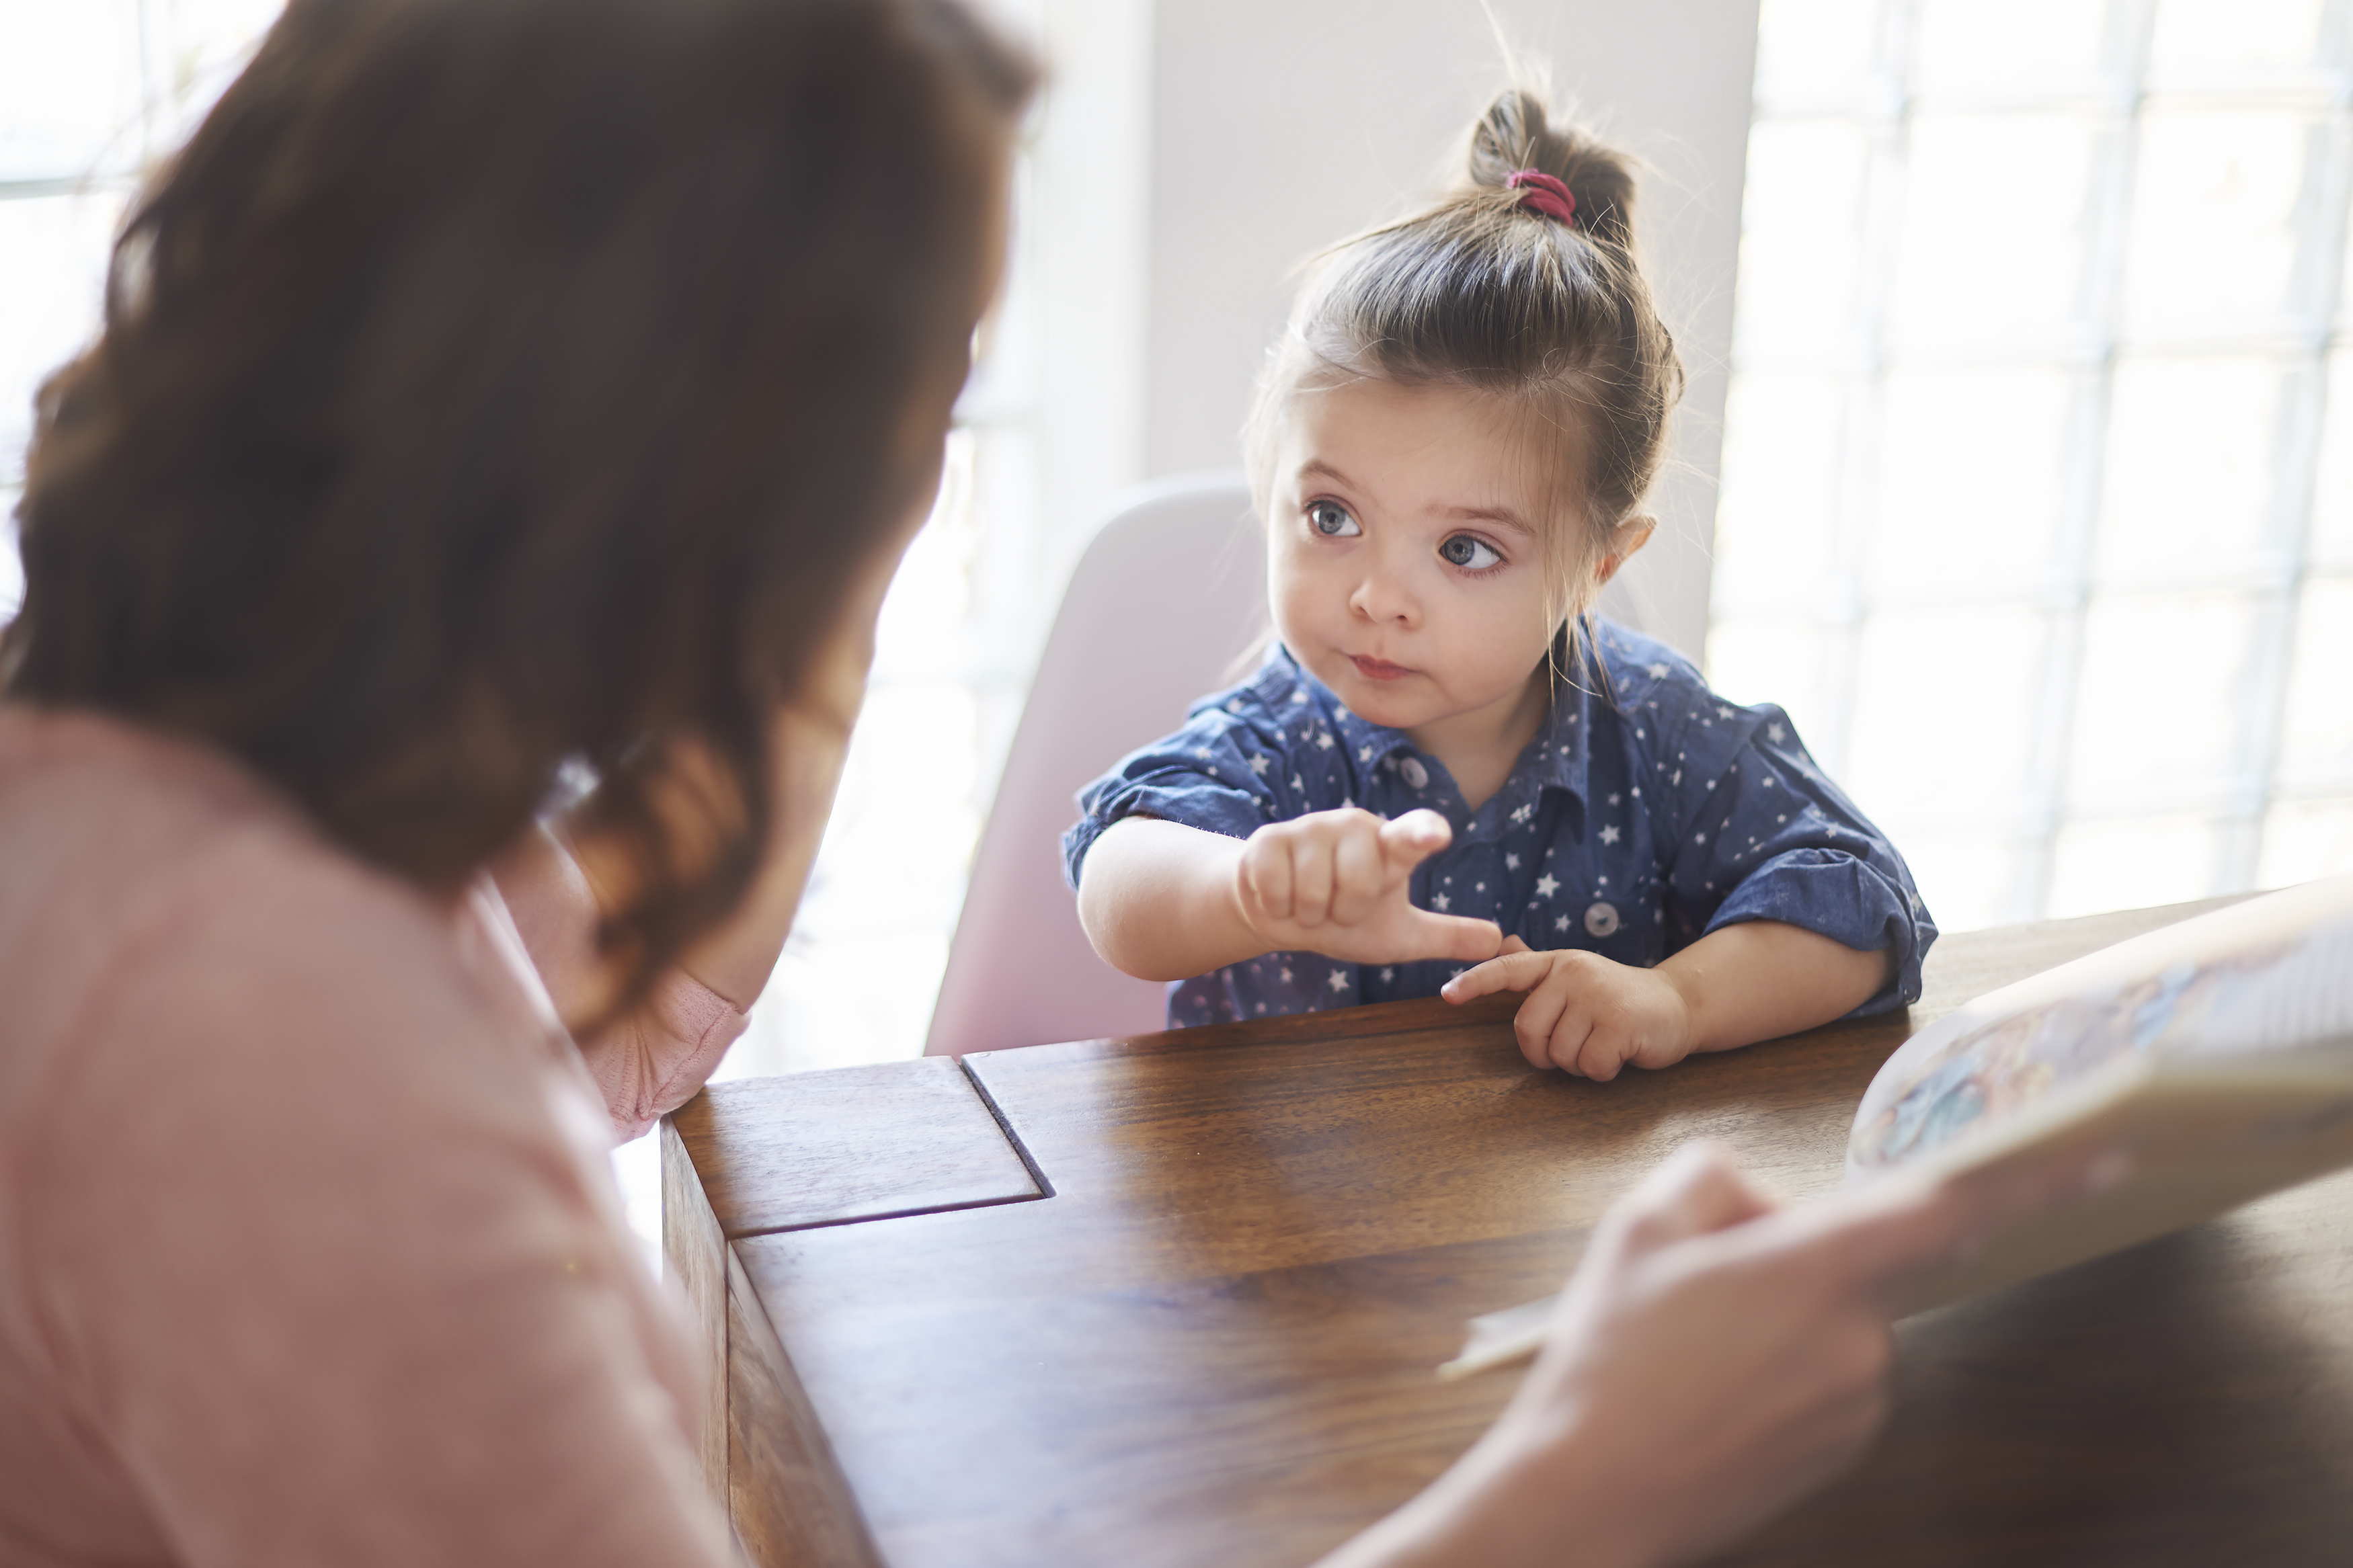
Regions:
<instances>
[{"instance_id":1,"label":"glass block in right window, third column from left, second row from top","mask_svg":"<svg viewBox=\"0 0 2353 1568\"><path fill-rule=\"evenodd\" d=\"M2280 327L2320 125L2299 113L2141 115L2125 317L2134 334Z\"/></svg>"}]
</instances>

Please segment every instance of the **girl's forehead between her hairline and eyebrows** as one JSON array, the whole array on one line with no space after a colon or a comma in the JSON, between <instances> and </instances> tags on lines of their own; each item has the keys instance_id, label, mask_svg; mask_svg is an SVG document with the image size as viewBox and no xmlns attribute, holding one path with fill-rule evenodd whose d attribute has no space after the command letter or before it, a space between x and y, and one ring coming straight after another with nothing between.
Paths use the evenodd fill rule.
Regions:
<instances>
[{"instance_id":1,"label":"girl's forehead between her hairline and eyebrows","mask_svg":"<svg viewBox=\"0 0 2353 1568\"><path fill-rule=\"evenodd\" d=\"M1285 400L1278 480L1344 480L1529 522L1574 503L1577 430L1529 400L1471 386L1351 376ZM1398 496L1400 501L1407 496Z\"/></svg>"}]
</instances>

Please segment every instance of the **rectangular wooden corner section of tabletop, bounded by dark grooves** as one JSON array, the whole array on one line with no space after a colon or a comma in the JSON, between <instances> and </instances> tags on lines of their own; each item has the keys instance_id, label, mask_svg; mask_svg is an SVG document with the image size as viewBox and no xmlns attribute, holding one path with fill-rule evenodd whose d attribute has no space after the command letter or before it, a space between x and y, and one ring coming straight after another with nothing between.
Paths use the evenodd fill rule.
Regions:
<instances>
[{"instance_id":1,"label":"rectangular wooden corner section of tabletop, bounded by dark grooves","mask_svg":"<svg viewBox=\"0 0 2353 1568\"><path fill-rule=\"evenodd\" d=\"M1045 1197L951 1058L711 1084L671 1121L729 1239Z\"/></svg>"}]
</instances>

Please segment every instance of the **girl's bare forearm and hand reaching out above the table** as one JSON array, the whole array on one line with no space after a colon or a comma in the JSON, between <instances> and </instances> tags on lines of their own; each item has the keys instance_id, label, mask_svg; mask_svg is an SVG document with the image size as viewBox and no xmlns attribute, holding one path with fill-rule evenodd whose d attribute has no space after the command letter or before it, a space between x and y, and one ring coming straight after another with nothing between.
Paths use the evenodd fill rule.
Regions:
<instances>
[{"instance_id":1,"label":"girl's bare forearm and hand reaching out above the table","mask_svg":"<svg viewBox=\"0 0 2353 1568\"><path fill-rule=\"evenodd\" d=\"M1247 839L1132 816L1087 851L1078 919L1104 961L1139 980L1294 950L1344 964L1478 964L1504 950L1494 922L1409 898L1414 867L1452 837L1435 811L1311 811Z\"/></svg>"}]
</instances>

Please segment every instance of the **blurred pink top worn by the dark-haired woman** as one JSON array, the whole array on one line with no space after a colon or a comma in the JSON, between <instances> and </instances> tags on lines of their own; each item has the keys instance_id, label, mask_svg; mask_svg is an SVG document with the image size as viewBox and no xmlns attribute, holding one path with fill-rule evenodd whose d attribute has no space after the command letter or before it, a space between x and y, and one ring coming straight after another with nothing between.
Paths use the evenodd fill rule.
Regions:
<instances>
[{"instance_id":1,"label":"blurred pink top worn by the dark-haired woman","mask_svg":"<svg viewBox=\"0 0 2353 1568\"><path fill-rule=\"evenodd\" d=\"M0 1563L732 1561L607 1147L744 1018L678 976L574 1051L522 943L581 961L584 893L452 912L0 705Z\"/></svg>"}]
</instances>

